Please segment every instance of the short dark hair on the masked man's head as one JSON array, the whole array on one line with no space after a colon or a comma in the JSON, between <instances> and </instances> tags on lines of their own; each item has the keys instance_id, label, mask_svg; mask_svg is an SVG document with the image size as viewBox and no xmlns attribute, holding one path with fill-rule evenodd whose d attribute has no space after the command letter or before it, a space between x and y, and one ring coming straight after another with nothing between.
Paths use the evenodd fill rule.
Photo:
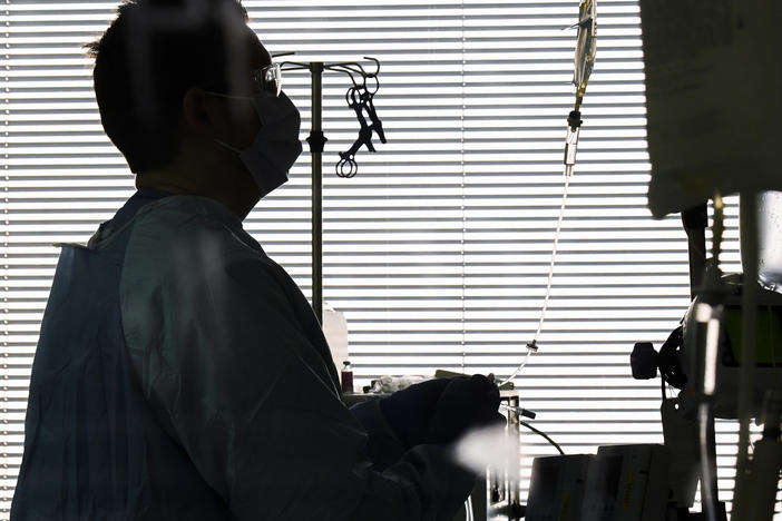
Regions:
<instances>
[{"instance_id":1,"label":"short dark hair on the masked man's head","mask_svg":"<svg viewBox=\"0 0 782 521\"><path fill-rule=\"evenodd\" d=\"M163 168L182 139L192 87L226 83L245 49L238 0L129 0L87 45L100 121L136 174Z\"/></svg>"}]
</instances>

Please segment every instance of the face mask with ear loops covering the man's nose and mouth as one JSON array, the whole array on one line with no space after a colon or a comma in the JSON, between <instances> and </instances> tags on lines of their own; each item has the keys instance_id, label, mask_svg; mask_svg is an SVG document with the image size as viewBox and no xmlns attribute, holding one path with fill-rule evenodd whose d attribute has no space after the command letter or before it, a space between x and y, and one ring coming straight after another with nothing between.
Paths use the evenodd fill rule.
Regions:
<instances>
[{"instance_id":1,"label":"face mask with ear loops covering the man's nose and mouth","mask_svg":"<svg viewBox=\"0 0 782 521\"><path fill-rule=\"evenodd\" d=\"M261 189L261 197L265 197L287 181L287 171L302 153L302 144L299 140L299 110L284 92L280 92L276 98L267 92L260 92L254 97L213 94L225 98L247 99L255 107L261 120L261 130L246 149L240 150L219 139L215 141L238 154Z\"/></svg>"}]
</instances>

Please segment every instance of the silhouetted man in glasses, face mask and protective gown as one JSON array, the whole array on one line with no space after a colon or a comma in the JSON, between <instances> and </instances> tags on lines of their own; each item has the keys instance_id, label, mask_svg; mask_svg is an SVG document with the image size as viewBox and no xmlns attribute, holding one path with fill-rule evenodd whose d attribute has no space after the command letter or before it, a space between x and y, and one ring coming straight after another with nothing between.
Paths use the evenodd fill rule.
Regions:
<instances>
[{"instance_id":1,"label":"silhouetted man in glasses, face mask and protective gown","mask_svg":"<svg viewBox=\"0 0 782 521\"><path fill-rule=\"evenodd\" d=\"M449 521L475 483L449 448L501 421L499 393L342 404L306 299L242 227L301 153L244 9L131 0L91 52L138 191L62 248L11 519Z\"/></svg>"}]
</instances>

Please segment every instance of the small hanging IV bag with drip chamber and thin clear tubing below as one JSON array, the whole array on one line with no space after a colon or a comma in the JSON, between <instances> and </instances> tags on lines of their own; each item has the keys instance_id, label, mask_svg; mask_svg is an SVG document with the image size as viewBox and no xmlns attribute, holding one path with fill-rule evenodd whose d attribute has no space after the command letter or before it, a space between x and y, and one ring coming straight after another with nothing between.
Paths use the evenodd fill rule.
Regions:
<instances>
[{"instance_id":1,"label":"small hanging IV bag with drip chamber and thin clear tubing below","mask_svg":"<svg viewBox=\"0 0 782 521\"><path fill-rule=\"evenodd\" d=\"M554 266L557 259L557 249L559 247L559 236L563 229L563 220L565 219L565 207L567 206L567 193L570 186L570 178L573 177L573 167L576 165L576 153L578 150L578 136L581 128L581 102L584 101L584 94L586 92L587 83L589 82L589 77L592 76L592 70L595 65L595 53L596 53L596 23L597 10L596 0L581 0L578 6L578 23L570 27L570 29L578 28L578 35L576 37L576 52L574 58L574 75L573 85L576 87L576 104L574 110L568 115L567 118L567 135L565 137L565 186L563 188L563 200L559 207L559 217L557 218L557 227L554 233L554 246L551 247L551 262L548 266L548 276L546 282L546 296L544 297L544 304L540 309L540 320L538 321L538 328L535 332L535 336L530 342L527 343L527 354L524 357L521 364L502 382L500 386L511 382L521 370L529 362L529 357L532 353L538 351L538 340L540 338L540 333L542 332L544 323L546 322L546 312L548 311L548 302L551 297L551 283L554 281Z\"/></svg>"}]
</instances>

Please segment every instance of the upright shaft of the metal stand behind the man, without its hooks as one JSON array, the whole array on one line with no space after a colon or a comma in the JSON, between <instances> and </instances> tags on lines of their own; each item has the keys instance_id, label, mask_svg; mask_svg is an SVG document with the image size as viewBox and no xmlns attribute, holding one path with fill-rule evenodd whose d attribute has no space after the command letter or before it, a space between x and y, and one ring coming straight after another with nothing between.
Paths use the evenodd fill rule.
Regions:
<instances>
[{"instance_id":1,"label":"upright shaft of the metal stand behind the man, without its hooks","mask_svg":"<svg viewBox=\"0 0 782 521\"><path fill-rule=\"evenodd\" d=\"M312 308L323 323L323 62L310 65L312 73Z\"/></svg>"}]
</instances>

